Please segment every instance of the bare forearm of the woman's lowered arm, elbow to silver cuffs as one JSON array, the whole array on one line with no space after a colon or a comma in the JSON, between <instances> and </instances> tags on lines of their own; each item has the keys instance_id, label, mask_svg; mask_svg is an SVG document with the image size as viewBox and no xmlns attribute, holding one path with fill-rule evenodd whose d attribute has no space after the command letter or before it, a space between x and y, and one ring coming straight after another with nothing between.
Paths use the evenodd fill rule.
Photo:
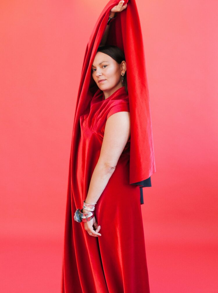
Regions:
<instances>
[{"instance_id":1,"label":"bare forearm of the woman's lowered arm, elbow to silver cuffs","mask_svg":"<svg viewBox=\"0 0 218 293\"><path fill-rule=\"evenodd\" d=\"M93 171L89 184L86 203L95 203L98 201L115 168L108 168L102 163L97 163ZM86 212L86 210L84 210Z\"/></svg>"}]
</instances>

